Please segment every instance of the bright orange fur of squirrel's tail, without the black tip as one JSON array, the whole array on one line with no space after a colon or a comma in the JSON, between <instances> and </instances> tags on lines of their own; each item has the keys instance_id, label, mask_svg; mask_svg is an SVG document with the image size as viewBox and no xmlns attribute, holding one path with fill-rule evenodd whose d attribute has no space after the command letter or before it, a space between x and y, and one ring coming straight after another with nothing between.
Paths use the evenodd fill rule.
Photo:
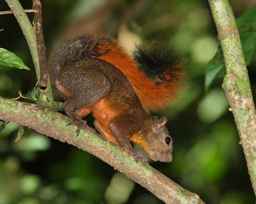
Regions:
<instances>
[{"instance_id":1,"label":"bright orange fur of squirrel's tail, without the black tip","mask_svg":"<svg viewBox=\"0 0 256 204\"><path fill-rule=\"evenodd\" d=\"M178 98L185 77L185 72L182 69L182 58L175 59L176 61L172 59L171 61L173 62L164 62L164 71L158 73L161 75L161 79L151 79L145 72L138 68L132 56L128 55L126 51L120 47L118 40L112 37L107 38L111 38L112 43L106 44L104 40L98 41L98 48L101 48L102 51L101 54L96 57L110 62L124 73L132 84L144 109L156 111L169 105L171 100ZM106 49L108 49L108 52L104 52ZM177 54L175 54L175 57L177 57ZM179 60L178 63L177 60ZM150 69L150 67L147 67L147 69Z\"/></svg>"}]
</instances>

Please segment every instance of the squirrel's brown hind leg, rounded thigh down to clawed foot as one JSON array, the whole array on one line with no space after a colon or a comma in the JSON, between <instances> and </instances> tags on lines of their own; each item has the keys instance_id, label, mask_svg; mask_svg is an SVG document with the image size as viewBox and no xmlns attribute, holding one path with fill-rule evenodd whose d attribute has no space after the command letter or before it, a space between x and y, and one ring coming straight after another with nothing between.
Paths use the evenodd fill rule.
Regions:
<instances>
[{"instance_id":1,"label":"squirrel's brown hind leg, rounded thigh down to clawed foot","mask_svg":"<svg viewBox=\"0 0 256 204\"><path fill-rule=\"evenodd\" d=\"M70 78L60 77L56 80L56 87L67 98L63 103L63 109L73 120L68 125L75 123L78 126L77 136L81 128L84 131L88 129L96 132L95 129L88 127L87 121L82 118L91 113L91 106L108 95L111 89L108 78L97 67L87 68L80 70L78 77L74 79L71 76Z\"/></svg>"}]
</instances>

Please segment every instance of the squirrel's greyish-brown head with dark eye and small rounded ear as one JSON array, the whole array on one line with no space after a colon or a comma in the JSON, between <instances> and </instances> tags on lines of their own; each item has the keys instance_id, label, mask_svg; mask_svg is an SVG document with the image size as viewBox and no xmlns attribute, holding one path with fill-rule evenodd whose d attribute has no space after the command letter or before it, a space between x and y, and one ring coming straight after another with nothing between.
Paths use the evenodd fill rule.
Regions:
<instances>
[{"instance_id":1,"label":"squirrel's greyish-brown head with dark eye and small rounded ear","mask_svg":"<svg viewBox=\"0 0 256 204\"><path fill-rule=\"evenodd\" d=\"M160 160L163 162L172 161L172 138L165 127L167 118L164 116L160 119L152 117L154 121L151 125L150 133L145 140L144 149L148 156L153 160Z\"/></svg>"}]
</instances>

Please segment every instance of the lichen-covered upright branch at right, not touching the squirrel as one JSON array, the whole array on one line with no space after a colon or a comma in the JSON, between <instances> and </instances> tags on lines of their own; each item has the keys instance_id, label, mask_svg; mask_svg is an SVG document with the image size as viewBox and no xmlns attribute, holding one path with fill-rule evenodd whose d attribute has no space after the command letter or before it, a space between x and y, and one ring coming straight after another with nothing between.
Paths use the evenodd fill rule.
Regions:
<instances>
[{"instance_id":1,"label":"lichen-covered upright branch at right, not touching the squirrel","mask_svg":"<svg viewBox=\"0 0 256 204\"><path fill-rule=\"evenodd\" d=\"M236 121L252 187L256 194L256 112L243 48L228 0L209 0L209 4L219 33L226 66L222 87Z\"/></svg>"}]
</instances>

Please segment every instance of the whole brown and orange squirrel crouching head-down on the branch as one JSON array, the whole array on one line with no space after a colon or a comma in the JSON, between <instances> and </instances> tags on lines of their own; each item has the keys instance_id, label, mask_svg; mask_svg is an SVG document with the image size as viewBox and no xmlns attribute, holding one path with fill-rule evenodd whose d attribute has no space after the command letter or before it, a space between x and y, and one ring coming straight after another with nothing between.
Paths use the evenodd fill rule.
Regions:
<instances>
[{"instance_id":1,"label":"whole brown and orange squirrel crouching head-down on the branch","mask_svg":"<svg viewBox=\"0 0 256 204\"><path fill-rule=\"evenodd\" d=\"M133 55L133 57L132 57ZM76 124L77 135L94 126L108 141L148 162L130 141L140 144L153 160L172 161L172 138L165 116L148 111L178 98L185 84L183 56L161 38L136 44L132 55L109 35L85 34L65 41L48 60L51 83L64 98L63 109ZM146 112L147 111L147 112Z\"/></svg>"}]
</instances>

